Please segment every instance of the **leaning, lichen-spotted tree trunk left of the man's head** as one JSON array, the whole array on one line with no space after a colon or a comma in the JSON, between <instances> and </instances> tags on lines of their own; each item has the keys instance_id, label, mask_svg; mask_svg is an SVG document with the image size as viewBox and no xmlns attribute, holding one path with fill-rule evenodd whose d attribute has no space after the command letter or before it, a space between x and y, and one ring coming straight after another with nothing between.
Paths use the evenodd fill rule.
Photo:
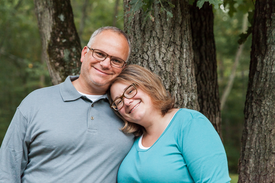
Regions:
<instances>
[{"instance_id":1,"label":"leaning, lichen-spotted tree trunk left of the man's head","mask_svg":"<svg viewBox=\"0 0 275 183\"><path fill-rule=\"evenodd\" d=\"M53 85L80 71L81 46L69 0L34 0L35 13Z\"/></svg>"}]
</instances>

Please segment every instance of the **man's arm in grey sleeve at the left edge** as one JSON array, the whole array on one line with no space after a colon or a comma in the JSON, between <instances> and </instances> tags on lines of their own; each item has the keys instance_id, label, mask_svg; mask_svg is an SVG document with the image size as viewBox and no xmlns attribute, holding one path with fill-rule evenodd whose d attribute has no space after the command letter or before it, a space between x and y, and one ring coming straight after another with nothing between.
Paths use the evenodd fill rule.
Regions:
<instances>
[{"instance_id":1,"label":"man's arm in grey sleeve at the left edge","mask_svg":"<svg viewBox=\"0 0 275 183\"><path fill-rule=\"evenodd\" d=\"M21 182L28 163L27 119L17 108L0 148L0 182Z\"/></svg>"}]
</instances>

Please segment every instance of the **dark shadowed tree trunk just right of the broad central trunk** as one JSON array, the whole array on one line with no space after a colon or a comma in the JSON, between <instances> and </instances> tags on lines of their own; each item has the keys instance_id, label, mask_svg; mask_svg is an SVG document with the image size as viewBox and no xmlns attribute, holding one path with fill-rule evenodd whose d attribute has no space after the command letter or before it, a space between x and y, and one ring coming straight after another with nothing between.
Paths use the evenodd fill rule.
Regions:
<instances>
[{"instance_id":1,"label":"dark shadowed tree trunk just right of the broad central trunk","mask_svg":"<svg viewBox=\"0 0 275 183\"><path fill-rule=\"evenodd\" d=\"M200 112L211 121L222 139L213 21L212 6L208 2L204 3L201 9L197 7L197 1L190 5L192 46Z\"/></svg>"}]
</instances>

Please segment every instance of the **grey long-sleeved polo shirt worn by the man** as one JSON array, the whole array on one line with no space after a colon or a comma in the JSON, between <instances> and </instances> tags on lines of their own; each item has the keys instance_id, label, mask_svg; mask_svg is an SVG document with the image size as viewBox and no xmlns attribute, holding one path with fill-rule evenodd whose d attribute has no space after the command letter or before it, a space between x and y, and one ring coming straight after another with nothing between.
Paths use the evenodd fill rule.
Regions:
<instances>
[{"instance_id":1,"label":"grey long-sleeved polo shirt worn by the man","mask_svg":"<svg viewBox=\"0 0 275 183\"><path fill-rule=\"evenodd\" d=\"M29 94L0 148L0 182L116 182L134 137L107 96L95 102L72 85L78 76Z\"/></svg>"}]
</instances>

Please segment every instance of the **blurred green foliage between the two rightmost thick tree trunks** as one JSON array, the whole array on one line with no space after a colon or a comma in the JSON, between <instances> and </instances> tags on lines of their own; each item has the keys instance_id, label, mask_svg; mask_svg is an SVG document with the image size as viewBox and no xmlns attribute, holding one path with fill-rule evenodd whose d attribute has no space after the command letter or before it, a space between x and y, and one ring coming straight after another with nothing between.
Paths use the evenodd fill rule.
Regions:
<instances>
[{"instance_id":1,"label":"blurred green foliage between the two rightmost thick tree trunks","mask_svg":"<svg viewBox=\"0 0 275 183\"><path fill-rule=\"evenodd\" d=\"M233 4L231 3L231 7L229 4L226 4L225 7L221 5L214 14L214 35L220 96L222 96L227 85L235 61L235 54L239 47L238 39L242 33L243 16L254 8L250 6L251 9L247 9L247 6L245 6L245 9L243 9L243 3L247 2L241 0L234 1ZM233 13L229 14L229 12ZM221 111L223 144L227 154L229 172L232 173L237 173L241 150L240 143L244 124L243 110L248 83L251 42L252 36L248 36L247 41L244 42L233 87L227 98L225 107Z\"/></svg>"}]
</instances>

